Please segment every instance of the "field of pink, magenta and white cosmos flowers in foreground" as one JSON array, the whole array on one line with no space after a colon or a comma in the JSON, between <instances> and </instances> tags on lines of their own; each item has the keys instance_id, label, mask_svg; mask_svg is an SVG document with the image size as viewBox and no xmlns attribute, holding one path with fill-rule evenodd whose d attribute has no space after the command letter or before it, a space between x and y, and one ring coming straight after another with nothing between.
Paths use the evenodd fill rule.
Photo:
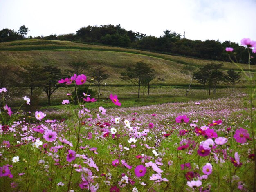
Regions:
<instances>
[{"instance_id":1,"label":"field of pink, magenta and white cosmos flowers in foreground","mask_svg":"<svg viewBox=\"0 0 256 192\"><path fill-rule=\"evenodd\" d=\"M84 74L59 81L75 86L87 82ZM97 99L87 93L74 105L76 95L69 94L62 102L68 118L56 121L42 111L13 112L4 103L7 90L2 87L0 188L253 191L255 89L251 90L249 95L128 108L121 107L113 90L107 102L118 107L112 109L90 108ZM29 105L30 99L25 96L23 101Z\"/></svg>"}]
</instances>

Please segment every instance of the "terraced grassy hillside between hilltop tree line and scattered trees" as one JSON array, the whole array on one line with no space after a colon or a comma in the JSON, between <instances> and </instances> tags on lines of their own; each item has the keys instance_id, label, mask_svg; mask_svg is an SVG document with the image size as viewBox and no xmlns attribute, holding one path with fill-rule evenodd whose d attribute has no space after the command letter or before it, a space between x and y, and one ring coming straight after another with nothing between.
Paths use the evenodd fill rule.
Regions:
<instances>
[{"instance_id":1,"label":"terraced grassy hillside between hilltop tree line and scattered trees","mask_svg":"<svg viewBox=\"0 0 256 192\"><path fill-rule=\"evenodd\" d=\"M166 79L164 84L187 84L189 77L181 74L184 65L200 67L206 63L223 63L223 69L238 68L232 63L200 60L182 56L158 54L135 49L119 47L80 44L68 41L53 40L19 40L0 43L0 61L7 65L24 65L38 63L40 65L53 64L67 67L67 63L76 60L86 60L91 65L105 64L111 78L110 84L125 84L121 81L120 73L127 65L144 60L157 72L157 77ZM247 70L247 65L241 65ZM256 70L256 66L252 66Z\"/></svg>"}]
</instances>

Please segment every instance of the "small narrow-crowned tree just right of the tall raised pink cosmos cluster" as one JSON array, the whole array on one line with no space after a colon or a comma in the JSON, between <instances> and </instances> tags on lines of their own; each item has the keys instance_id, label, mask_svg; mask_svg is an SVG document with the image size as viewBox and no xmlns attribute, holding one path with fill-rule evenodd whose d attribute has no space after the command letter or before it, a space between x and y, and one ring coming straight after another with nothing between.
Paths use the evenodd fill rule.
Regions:
<instances>
[{"instance_id":1,"label":"small narrow-crowned tree just right of the tall raised pink cosmos cluster","mask_svg":"<svg viewBox=\"0 0 256 192\"><path fill-rule=\"evenodd\" d=\"M94 78L93 83L98 86L98 98L102 81L108 79L110 76L110 74L107 73L107 70L103 69L104 67L104 65L95 66L92 68L91 72L91 75Z\"/></svg>"}]
</instances>

